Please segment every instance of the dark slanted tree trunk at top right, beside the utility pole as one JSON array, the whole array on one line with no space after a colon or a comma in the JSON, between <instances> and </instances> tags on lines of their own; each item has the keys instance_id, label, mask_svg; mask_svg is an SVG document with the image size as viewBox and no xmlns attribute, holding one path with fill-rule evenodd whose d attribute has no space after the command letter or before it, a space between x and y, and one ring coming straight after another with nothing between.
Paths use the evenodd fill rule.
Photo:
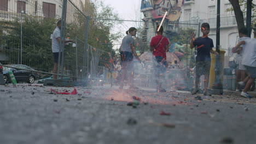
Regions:
<instances>
[{"instance_id":1,"label":"dark slanted tree trunk at top right, beside the utility pole","mask_svg":"<svg viewBox=\"0 0 256 144\"><path fill-rule=\"evenodd\" d=\"M236 22L237 22L237 28L239 30L242 27L245 27L245 22L243 21L243 12L240 8L239 0L229 0L229 2L231 3L231 5L234 9L235 16L236 16Z\"/></svg>"}]
</instances>

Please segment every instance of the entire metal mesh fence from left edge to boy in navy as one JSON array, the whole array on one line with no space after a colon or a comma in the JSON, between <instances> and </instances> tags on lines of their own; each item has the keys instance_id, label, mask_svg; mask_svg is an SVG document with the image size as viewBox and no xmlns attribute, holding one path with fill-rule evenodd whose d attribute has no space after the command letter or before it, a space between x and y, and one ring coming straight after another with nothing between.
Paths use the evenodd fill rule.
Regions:
<instances>
[{"instance_id":1,"label":"entire metal mesh fence from left edge to boy in navy","mask_svg":"<svg viewBox=\"0 0 256 144\"><path fill-rule=\"evenodd\" d=\"M95 27L104 25L108 21L123 22L124 28L136 26L138 29L135 45L138 55L141 57L144 67L136 65L135 85L154 87L152 59L149 44L155 36L156 26L160 21L127 21L99 19L85 15L85 4L75 4L70 0L42 0L18 2L10 0L11 7L7 11L0 11L0 61L3 64L24 64L41 74L53 74L54 56L51 49L56 22L61 23L61 55L59 56L59 75L103 79L106 83L118 85L120 73L118 60L120 53L112 49L120 47L121 38L116 41L102 37L104 29L95 32ZM25 4L25 5L24 5ZM79 7L77 6L79 5ZM188 82L189 69L193 68L194 50L189 49L189 35L191 31L199 33L200 23L190 22L164 22L164 36L170 41L171 49L167 53L169 81L168 87L172 87L178 75L182 74L184 83ZM89 34L92 35L89 38ZM123 37L125 31L121 33ZM98 39L102 38L102 39ZM65 40L74 39L75 43L65 43ZM95 41L91 45L90 41ZM92 40L93 39L93 40ZM93 45L93 46L92 46ZM177 62L177 63L176 63ZM177 67L178 65L178 67ZM184 77L184 75L187 77ZM174 79L171 79L174 77Z\"/></svg>"}]
</instances>

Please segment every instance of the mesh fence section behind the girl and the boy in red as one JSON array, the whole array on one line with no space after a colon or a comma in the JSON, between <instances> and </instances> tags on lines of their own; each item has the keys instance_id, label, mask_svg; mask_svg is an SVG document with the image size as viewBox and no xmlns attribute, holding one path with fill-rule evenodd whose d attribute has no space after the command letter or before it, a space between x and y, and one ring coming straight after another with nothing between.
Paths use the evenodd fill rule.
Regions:
<instances>
[{"instance_id":1,"label":"mesh fence section behind the girl and the boy in red","mask_svg":"<svg viewBox=\"0 0 256 144\"><path fill-rule=\"evenodd\" d=\"M100 20L103 19L94 19L94 21ZM104 21L118 22L119 20L104 19ZM156 35L156 26L160 24L161 19L159 19L159 21L120 21L124 21L124 23L126 23L126 25L123 25L123 29L128 30L130 27L138 26L136 27L137 35L133 38L135 39L137 55L142 60L143 64L136 62L136 58L133 56L135 68L134 85L139 87L155 87L153 56L152 52L149 52L149 47L151 39ZM167 52L168 67L165 87L176 87L181 89L191 87L194 81L193 68L195 67L196 53L195 49L190 49L190 33L193 31L198 34L200 32L200 23L198 20L189 22L171 22L166 20L163 27L164 36L170 42L170 49ZM120 85L122 70L118 69L121 67L120 52L118 50L125 35L124 31L123 37L114 41L115 44L112 44L115 46L114 48L116 50L115 53L113 53L113 68L111 70L113 85ZM97 37L97 35L95 37ZM108 44L105 43L104 45ZM110 71L108 73L110 74ZM126 81L129 79L131 79L129 76L125 78ZM127 82L125 83L127 84Z\"/></svg>"}]
</instances>

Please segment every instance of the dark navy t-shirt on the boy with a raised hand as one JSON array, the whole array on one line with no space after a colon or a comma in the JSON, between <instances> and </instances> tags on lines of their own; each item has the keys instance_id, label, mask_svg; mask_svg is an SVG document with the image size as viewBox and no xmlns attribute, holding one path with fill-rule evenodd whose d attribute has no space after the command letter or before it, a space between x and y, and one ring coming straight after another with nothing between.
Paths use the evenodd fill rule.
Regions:
<instances>
[{"instance_id":1,"label":"dark navy t-shirt on the boy with a raised hand","mask_svg":"<svg viewBox=\"0 0 256 144\"><path fill-rule=\"evenodd\" d=\"M194 41L194 46L197 46L196 61L211 61L210 50L214 47L211 38L199 37Z\"/></svg>"}]
</instances>

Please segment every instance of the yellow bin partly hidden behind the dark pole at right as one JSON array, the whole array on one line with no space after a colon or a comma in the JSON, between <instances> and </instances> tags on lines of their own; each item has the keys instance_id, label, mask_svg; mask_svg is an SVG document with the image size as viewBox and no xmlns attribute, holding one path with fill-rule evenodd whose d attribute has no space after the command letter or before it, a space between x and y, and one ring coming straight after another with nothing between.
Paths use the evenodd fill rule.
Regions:
<instances>
[{"instance_id":1,"label":"yellow bin partly hidden behind the dark pole at right","mask_svg":"<svg viewBox=\"0 0 256 144\"><path fill-rule=\"evenodd\" d=\"M215 51L215 50L214 50ZM223 82L223 67L224 67L224 57L225 57L225 52L224 50L220 50L220 79ZM214 81L215 81L215 63L216 63L216 59L215 59L215 55L213 53L211 53L211 69L210 69L210 77L209 77L209 88L213 87Z\"/></svg>"}]
</instances>

